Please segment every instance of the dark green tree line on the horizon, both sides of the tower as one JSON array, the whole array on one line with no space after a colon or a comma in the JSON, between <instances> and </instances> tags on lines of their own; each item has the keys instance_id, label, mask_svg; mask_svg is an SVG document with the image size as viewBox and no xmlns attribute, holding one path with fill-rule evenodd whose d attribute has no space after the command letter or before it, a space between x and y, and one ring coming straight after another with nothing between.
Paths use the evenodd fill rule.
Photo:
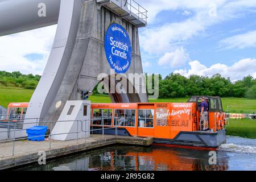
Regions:
<instances>
[{"instance_id":1,"label":"dark green tree line on the horizon, both sides of the tower","mask_svg":"<svg viewBox=\"0 0 256 182\"><path fill-rule=\"evenodd\" d=\"M35 89L40 80L39 75L23 75L20 72L0 71L0 86ZM149 75L146 74L146 78ZM154 77L154 74L151 75ZM154 87L154 84L153 84ZM97 87L96 87L97 88ZM94 93L97 93L97 89ZM232 82L220 74L212 77L192 75L184 77L171 73L166 77L159 75L159 98L179 98L190 96L220 96L256 98L256 79L253 76L243 77Z\"/></svg>"}]
</instances>

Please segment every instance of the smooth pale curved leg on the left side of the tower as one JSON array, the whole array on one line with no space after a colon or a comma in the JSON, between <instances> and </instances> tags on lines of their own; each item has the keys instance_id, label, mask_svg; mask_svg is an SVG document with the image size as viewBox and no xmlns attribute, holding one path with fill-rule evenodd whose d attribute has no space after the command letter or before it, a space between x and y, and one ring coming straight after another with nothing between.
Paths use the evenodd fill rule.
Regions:
<instances>
[{"instance_id":1,"label":"smooth pale curved leg on the left side of the tower","mask_svg":"<svg viewBox=\"0 0 256 182\"><path fill-rule=\"evenodd\" d=\"M72 55L79 27L81 5L81 0L61 0L55 40L46 68L28 105L24 123L29 122L27 118L46 117Z\"/></svg>"}]
</instances>

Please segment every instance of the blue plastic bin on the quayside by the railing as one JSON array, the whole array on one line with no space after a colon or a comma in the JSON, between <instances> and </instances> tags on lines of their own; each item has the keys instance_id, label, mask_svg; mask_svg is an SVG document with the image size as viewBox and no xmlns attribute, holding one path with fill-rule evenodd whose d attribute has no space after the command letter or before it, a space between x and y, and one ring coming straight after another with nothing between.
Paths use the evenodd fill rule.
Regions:
<instances>
[{"instance_id":1,"label":"blue plastic bin on the quayside by the railing","mask_svg":"<svg viewBox=\"0 0 256 182\"><path fill-rule=\"evenodd\" d=\"M34 126L30 127L27 130L27 139L31 141L43 141L44 135L46 135L47 126ZM42 136L42 137L39 137ZM33 137L33 138L31 138Z\"/></svg>"}]
</instances>

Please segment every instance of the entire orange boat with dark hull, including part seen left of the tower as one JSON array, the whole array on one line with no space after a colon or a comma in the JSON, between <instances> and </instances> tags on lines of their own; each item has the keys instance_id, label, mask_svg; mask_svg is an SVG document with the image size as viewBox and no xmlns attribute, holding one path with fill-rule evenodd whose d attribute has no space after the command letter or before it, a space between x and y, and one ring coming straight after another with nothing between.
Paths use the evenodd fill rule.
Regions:
<instances>
[{"instance_id":1,"label":"entire orange boat with dark hull, including part seen left of the tower","mask_svg":"<svg viewBox=\"0 0 256 182\"><path fill-rule=\"evenodd\" d=\"M201 97L208 102L209 130L200 121ZM28 103L8 106L8 121L24 118ZM217 150L226 142L220 97L192 96L185 103L91 104L92 134L152 137L155 145ZM102 130L104 128L104 130Z\"/></svg>"}]
</instances>

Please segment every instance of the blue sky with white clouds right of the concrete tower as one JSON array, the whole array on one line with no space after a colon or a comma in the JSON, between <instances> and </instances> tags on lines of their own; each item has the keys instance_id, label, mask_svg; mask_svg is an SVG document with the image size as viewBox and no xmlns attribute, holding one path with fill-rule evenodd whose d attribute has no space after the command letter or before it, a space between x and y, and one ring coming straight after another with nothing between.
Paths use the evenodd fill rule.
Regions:
<instances>
[{"instance_id":1,"label":"blue sky with white clouds right of the concrete tower","mask_svg":"<svg viewBox=\"0 0 256 182\"><path fill-rule=\"evenodd\" d=\"M144 72L221 73L232 80L249 74L256 77L256 1L159 3L162 7L152 7L154 1L144 4L155 14L140 30ZM164 43L167 46L159 48ZM245 64L249 69L238 69Z\"/></svg>"}]
</instances>

